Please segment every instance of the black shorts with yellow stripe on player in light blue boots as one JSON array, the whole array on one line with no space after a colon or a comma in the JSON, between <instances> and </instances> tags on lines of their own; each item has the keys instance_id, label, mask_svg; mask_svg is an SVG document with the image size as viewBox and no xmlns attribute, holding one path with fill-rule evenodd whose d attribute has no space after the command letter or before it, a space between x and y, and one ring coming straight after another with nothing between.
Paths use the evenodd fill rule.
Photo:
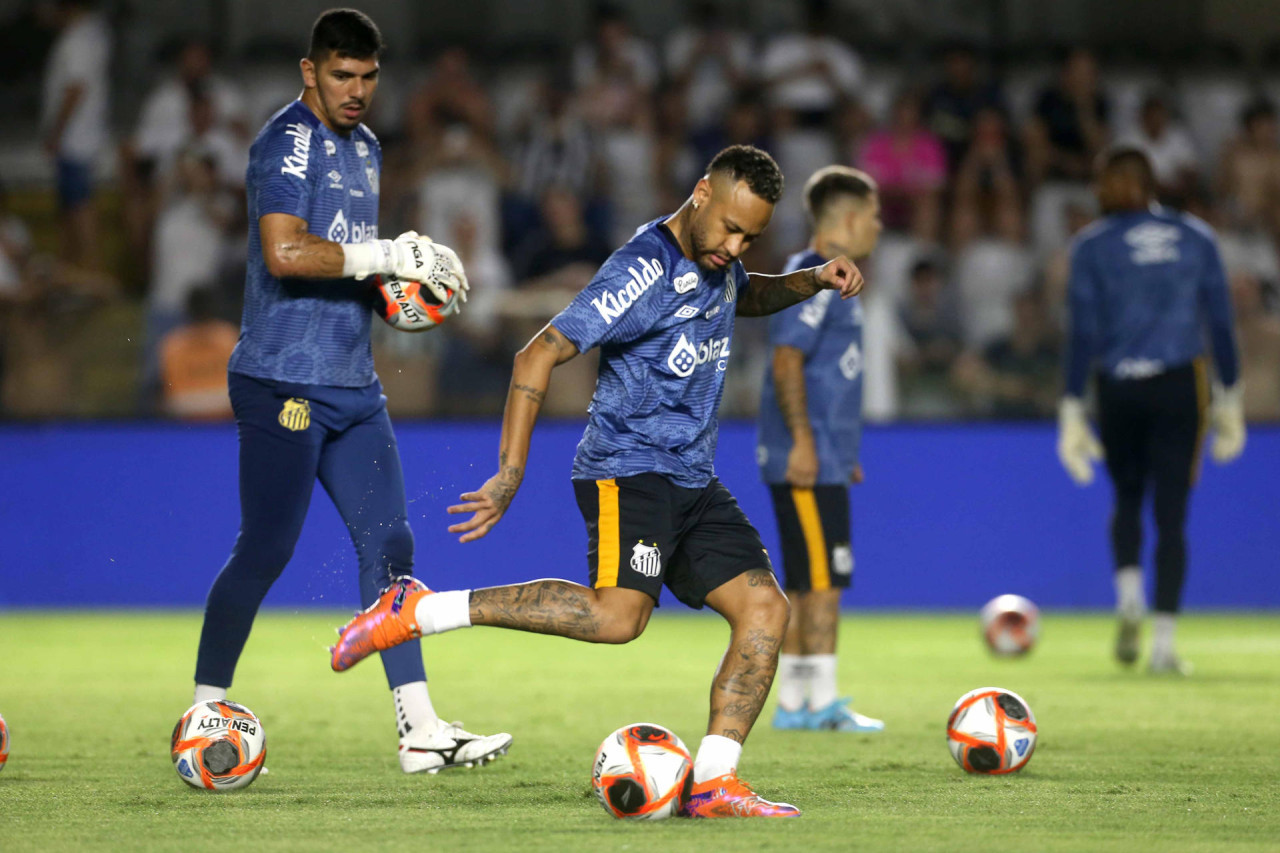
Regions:
<instances>
[{"instance_id":1,"label":"black shorts with yellow stripe on player in light blue boots","mask_svg":"<svg viewBox=\"0 0 1280 853\"><path fill-rule=\"evenodd\" d=\"M782 539L783 589L846 589L854 579L849 487L769 485Z\"/></svg>"}]
</instances>

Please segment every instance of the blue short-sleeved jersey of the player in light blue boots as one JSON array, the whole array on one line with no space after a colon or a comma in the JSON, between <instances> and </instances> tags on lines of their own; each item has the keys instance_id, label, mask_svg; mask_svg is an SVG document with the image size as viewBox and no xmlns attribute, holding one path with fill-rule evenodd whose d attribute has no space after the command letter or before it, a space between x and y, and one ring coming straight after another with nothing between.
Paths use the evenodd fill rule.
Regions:
<instances>
[{"instance_id":1,"label":"blue short-sleeved jersey of the player in light blue boots","mask_svg":"<svg viewBox=\"0 0 1280 853\"><path fill-rule=\"evenodd\" d=\"M785 273L820 266L813 251L787 259ZM836 291L815 296L769 318L771 359L764 369L755 455L765 483L786 483L791 430L782 419L773 387L773 347L804 352L809 424L818 451L818 483L847 485L858 465L863 435L863 305Z\"/></svg>"}]
</instances>

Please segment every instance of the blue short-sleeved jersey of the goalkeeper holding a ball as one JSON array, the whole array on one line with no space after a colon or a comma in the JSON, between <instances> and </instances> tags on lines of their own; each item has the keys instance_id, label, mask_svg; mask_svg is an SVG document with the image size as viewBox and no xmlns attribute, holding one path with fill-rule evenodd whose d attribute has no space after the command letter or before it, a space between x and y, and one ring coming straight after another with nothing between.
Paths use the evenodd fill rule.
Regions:
<instances>
[{"instance_id":1,"label":"blue short-sleeved jersey of the goalkeeper holding a ball","mask_svg":"<svg viewBox=\"0 0 1280 853\"><path fill-rule=\"evenodd\" d=\"M302 101L273 115L250 149L248 269L241 338L229 370L260 379L361 388L376 379L369 343L370 283L280 279L262 259L257 220L307 220L337 243L378 237L381 149L364 124L330 131Z\"/></svg>"}]
</instances>

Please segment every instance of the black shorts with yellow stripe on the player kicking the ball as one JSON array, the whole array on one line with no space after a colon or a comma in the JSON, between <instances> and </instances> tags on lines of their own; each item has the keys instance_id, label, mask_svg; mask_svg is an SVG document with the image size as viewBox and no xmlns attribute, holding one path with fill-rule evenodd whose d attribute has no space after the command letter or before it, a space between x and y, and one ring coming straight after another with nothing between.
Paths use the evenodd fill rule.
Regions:
<instances>
[{"instance_id":1,"label":"black shorts with yellow stripe on the player kicking the ball","mask_svg":"<svg viewBox=\"0 0 1280 853\"><path fill-rule=\"evenodd\" d=\"M591 587L648 593L663 584L701 608L717 587L753 569L773 570L760 534L724 484L687 489L660 474L573 480L586 521Z\"/></svg>"}]
</instances>

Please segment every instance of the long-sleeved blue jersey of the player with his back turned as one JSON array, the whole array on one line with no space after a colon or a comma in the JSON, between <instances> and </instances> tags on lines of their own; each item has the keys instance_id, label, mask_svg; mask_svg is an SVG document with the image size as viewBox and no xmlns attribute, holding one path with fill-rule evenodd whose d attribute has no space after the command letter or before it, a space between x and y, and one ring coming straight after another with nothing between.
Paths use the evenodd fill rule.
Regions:
<instances>
[{"instance_id":1,"label":"long-sleeved blue jersey of the player with his back turned","mask_svg":"<svg viewBox=\"0 0 1280 853\"><path fill-rule=\"evenodd\" d=\"M1206 327L1224 384L1239 362L1226 273L1213 231L1189 214L1152 205L1107 216L1071 247L1066 392L1084 393L1097 360L1115 379L1142 379L1189 364Z\"/></svg>"}]
</instances>

